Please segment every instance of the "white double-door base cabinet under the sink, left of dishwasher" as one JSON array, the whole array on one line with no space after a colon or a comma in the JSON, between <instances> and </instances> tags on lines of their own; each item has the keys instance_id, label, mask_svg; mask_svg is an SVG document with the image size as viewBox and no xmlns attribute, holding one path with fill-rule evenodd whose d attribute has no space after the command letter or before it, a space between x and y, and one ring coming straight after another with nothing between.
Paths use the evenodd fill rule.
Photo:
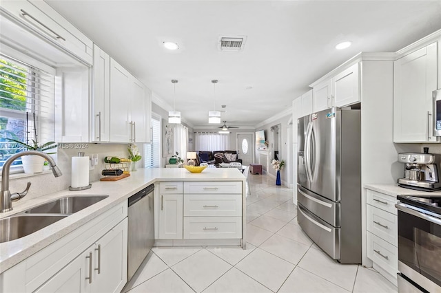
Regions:
<instances>
[{"instance_id":1,"label":"white double-door base cabinet under the sink, left of dishwasher","mask_svg":"<svg viewBox=\"0 0 441 293\"><path fill-rule=\"evenodd\" d=\"M126 282L123 202L3 272L0 292L121 292Z\"/></svg>"}]
</instances>

